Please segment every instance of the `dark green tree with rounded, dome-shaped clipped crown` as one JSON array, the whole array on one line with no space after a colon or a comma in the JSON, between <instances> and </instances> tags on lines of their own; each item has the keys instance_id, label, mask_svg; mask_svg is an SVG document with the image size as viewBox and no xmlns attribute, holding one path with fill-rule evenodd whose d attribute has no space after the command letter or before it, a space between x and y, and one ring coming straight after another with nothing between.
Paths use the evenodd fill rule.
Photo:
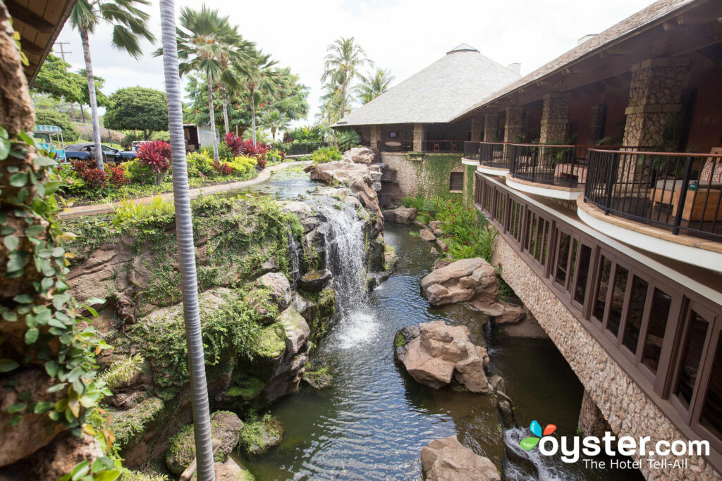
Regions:
<instances>
[{"instance_id":1,"label":"dark green tree with rounded, dome-shaped clipped crown","mask_svg":"<svg viewBox=\"0 0 722 481\"><path fill-rule=\"evenodd\" d=\"M149 140L155 131L168 130L165 93L146 87L118 89L110 95L103 125L116 131L143 131Z\"/></svg>"}]
</instances>

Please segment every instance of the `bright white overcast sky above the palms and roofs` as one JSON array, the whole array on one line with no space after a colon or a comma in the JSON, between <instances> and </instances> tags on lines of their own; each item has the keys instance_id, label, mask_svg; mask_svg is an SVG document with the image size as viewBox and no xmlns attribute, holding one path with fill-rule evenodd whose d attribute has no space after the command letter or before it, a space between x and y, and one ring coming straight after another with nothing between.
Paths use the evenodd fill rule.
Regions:
<instances>
[{"instance_id":1,"label":"bright white overcast sky above the palms and roofs","mask_svg":"<svg viewBox=\"0 0 722 481\"><path fill-rule=\"evenodd\" d=\"M160 42L159 3L145 7L149 27ZM392 85L412 76L448 50L468 43L492 60L521 63L529 74L577 45L584 35L599 33L651 4L651 0L336 0L297 1L207 0L238 25L239 32L271 53L279 66L289 66L310 87L308 120L313 123L321 97L326 48L336 38L355 37L375 66L391 70ZM181 7L199 8L200 1L177 0ZM157 45L144 42L136 61L110 43L112 29L100 25L90 36L90 53L106 94L121 87L164 89ZM77 31L66 25L58 41L71 53L66 61L84 68ZM157 43L158 43L157 42ZM55 47L59 54L59 45Z\"/></svg>"}]
</instances>

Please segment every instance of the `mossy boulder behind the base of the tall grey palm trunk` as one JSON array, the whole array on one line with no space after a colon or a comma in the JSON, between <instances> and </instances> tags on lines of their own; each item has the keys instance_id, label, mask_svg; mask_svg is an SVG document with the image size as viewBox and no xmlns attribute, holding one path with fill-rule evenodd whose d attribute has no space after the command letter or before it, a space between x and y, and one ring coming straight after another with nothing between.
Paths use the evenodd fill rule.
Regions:
<instances>
[{"instance_id":1,"label":"mossy boulder behind the base of the tall grey palm trunk","mask_svg":"<svg viewBox=\"0 0 722 481\"><path fill-rule=\"evenodd\" d=\"M211 431L214 441L220 441L214 459L224 462L228 454L235 449L240 437L243 421L232 412L216 411L211 415ZM193 434L193 424L188 424L170 440L168 454L165 455L165 464L170 472L180 476L193 459L196 459L196 441Z\"/></svg>"}]
</instances>

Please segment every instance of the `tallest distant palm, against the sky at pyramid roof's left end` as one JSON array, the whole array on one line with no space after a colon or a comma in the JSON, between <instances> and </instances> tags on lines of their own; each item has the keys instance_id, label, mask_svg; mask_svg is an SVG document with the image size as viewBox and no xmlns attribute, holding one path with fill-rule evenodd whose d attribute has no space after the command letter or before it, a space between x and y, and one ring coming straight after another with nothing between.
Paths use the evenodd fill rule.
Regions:
<instances>
[{"instance_id":1,"label":"tallest distant palm, against the sky at pyramid roof's left end","mask_svg":"<svg viewBox=\"0 0 722 481\"><path fill-rule=\"evenodd\" d=\"M326 58L323 59L323 76L321 81L334 83L341 89L340 113L343 118L346 112L349 85L361 76L359 69L362 66L373 66L366 52L356 45L354 37L341 37L335 40L326 49Z\"/></svg>"}]
</instances>

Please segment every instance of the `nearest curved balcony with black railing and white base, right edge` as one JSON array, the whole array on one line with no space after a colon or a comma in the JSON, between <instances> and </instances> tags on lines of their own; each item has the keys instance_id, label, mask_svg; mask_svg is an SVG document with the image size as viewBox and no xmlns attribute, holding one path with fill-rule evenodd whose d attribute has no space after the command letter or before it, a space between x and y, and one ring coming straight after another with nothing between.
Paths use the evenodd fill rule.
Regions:
<instances>
[{"instance_id":1,"label":"nearest curved balcony with black railing and white base, right edge","mask_svg":"<svg viewBox=\"0 0 722 481\"><path fill-rule=\"evenodd\" d=\"M722 272L722 154L588 149L578 213L659 255Z\"/></svg>"}]
</instances>

